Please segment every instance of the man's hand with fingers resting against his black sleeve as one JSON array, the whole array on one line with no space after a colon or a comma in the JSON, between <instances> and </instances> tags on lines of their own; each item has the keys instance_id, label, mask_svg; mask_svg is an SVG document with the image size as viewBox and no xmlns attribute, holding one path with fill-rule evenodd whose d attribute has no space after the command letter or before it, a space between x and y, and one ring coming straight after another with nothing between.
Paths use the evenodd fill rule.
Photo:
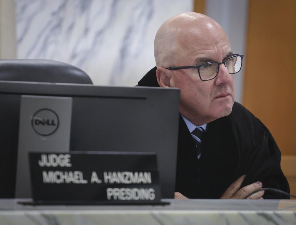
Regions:
<instances>
[{"instance_id":1,"label":"man's hand with fingers resting against his black sleeve","mask_svg":"<svg viewBox=\"0 0 296 225\"><path fill-rule=\"evenodd\" d=\"M233 182L222 194L220 198L232 198L232 199L245 199L249 194L256 190L260 190L262 188L262 183L257 181L253 184L247 185L242 187L238 190L241 186L241 183L245 179L246 175L241 176L235 182ZM264 190L258 191L255 194L252 194L248 197L248 199L263 199L262 196L264 195Z\"/></svg>"}]
</instances>

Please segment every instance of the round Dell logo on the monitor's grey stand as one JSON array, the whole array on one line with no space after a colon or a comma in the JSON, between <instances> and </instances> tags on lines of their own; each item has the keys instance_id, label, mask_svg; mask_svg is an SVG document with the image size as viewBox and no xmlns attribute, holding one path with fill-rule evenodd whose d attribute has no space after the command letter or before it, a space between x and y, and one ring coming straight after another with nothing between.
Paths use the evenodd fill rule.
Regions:
<instances>
[{"instance_id":1,"label":"round Dell logo on the monitor's grey stand","mask_svg":"<svg viewBox=\"0 0 296 225\"><path fill-rule=\"evenodd\" d=\"M31 125L33 130L41 136L49 136L58 129L59 117L51 109L42 108L34 113Z\"/></svg>"}]
</instances>

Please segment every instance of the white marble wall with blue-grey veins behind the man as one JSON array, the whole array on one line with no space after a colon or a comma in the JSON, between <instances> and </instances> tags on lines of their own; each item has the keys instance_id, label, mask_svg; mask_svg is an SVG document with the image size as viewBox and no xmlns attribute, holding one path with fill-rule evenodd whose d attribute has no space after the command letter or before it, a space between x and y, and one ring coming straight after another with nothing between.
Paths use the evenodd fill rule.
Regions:
<instances>
[{"instance_id":1,"label":"white marble wall with blue-grey veins behind the man","mask_svg":"<svg viewBox=\"0 0 296 225\"><path fill-rule=\"evenodd\" d=\"M84 70L97 85L134 86L155 66L159 26L193 0L16 0L17 55Z\"/></svg>"}]
</instances>

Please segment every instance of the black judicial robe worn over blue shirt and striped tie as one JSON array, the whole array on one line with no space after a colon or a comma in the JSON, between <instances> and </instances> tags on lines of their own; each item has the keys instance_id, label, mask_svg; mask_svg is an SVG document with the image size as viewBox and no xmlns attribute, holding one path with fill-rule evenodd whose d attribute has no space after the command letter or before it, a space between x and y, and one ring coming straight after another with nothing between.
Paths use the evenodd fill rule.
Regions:
<instances>
[{"instance_id":1,"label":"black judicial robe worn over blue shirt and striped tie","mask_svg":"<svg viewBox=\"0 0 296 225\"><path fill-rule=\"evenodd\" d=\"M155 72L156 67L138 86L159 87ZM276 142L265 125L241 104L235 102L230 115L208 123L201 147L197 160L192 136L180 116L175 191L186 197L220 198L244 174L241 187L260 181L263 187L290 193ZM263 198L289 197L266 190Z\"/></svg>"}]
</instances>

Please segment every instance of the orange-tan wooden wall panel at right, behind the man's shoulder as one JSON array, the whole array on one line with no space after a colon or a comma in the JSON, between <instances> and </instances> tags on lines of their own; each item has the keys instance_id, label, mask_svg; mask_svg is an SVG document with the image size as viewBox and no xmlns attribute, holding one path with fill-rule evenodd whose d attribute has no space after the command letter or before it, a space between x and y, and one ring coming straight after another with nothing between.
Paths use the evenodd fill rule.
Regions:
<instances>
[{"instance_id":1,"label":"orange-tan wooden wall panel at right, behind the man's shoulder","mask_svg":"<svg viewBox=\"0 0 296 225\"><path fill-rule=\"evenodd\" d=\"M250 0L243 104L296 155L296 1Z\"/></svg>"}]
</instances>

